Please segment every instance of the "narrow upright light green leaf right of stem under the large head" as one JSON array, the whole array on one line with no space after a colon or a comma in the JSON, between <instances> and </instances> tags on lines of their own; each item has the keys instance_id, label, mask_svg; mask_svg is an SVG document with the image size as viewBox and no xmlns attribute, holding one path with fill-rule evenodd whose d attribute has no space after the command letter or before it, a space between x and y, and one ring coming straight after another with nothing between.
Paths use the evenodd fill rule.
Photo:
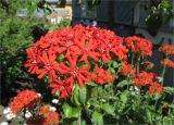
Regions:
<instances>
[{"instance_id":1,"label":"narrow upright light green leaf right of stem under the large head","mask_svg":"<svg viewBox=\"0 0 174 125\"><path fill-rule=\"evenodd\" d=\"M86 104L86 93L87 93L86 86L84 86L79 89L79 102L83 105Z\"/></svg>"}]
</instances>

